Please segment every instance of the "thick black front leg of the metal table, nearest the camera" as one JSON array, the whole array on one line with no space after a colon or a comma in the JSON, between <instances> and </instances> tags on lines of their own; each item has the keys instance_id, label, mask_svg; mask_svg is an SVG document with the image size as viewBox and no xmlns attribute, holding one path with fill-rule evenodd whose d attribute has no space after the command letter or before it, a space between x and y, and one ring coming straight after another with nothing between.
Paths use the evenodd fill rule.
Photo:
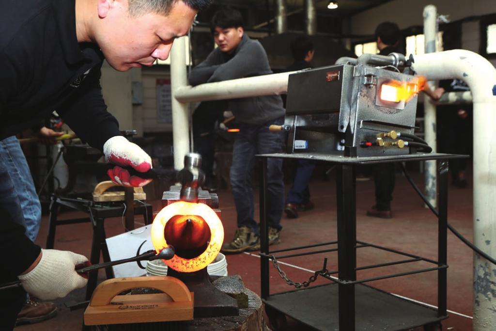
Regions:
<instances>
[{"instance_id":1,"label":"thick black front leg of the metal table, nearest the camera","mask_svg":"<svg viewBox=\"0 0 496 331\"><path fill-rule=\"evenodd\" d=\"M340 281L357 279L355 167L336 166L338 274ZM355 330L355 285L338 285L339 330Z\"/></svg>"}]
</instances>

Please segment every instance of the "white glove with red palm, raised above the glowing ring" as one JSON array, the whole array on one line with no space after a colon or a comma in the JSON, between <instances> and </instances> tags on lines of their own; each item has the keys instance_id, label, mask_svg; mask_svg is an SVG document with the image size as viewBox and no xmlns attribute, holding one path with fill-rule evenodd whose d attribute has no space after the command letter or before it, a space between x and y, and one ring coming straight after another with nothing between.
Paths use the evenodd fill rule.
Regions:
<instances>
[{"instance_id":1,"label":"white glove with red palm, raised above the glowing ring","mask_svg":"<svg viewBox=\"0 0 496 331\"><path fill-rule=\"evenodd\" d=\"M138 176L131 176L129 172L119 166L131 166L139 172L146 172L152 167L152 159L144 150L135 143L129 142L122 135L110 138L103 145L105 161L117 164L107 171L110 179L119 185L126 187L145 186L151 179L143 179Z\"/></svg>"}]
</instances>

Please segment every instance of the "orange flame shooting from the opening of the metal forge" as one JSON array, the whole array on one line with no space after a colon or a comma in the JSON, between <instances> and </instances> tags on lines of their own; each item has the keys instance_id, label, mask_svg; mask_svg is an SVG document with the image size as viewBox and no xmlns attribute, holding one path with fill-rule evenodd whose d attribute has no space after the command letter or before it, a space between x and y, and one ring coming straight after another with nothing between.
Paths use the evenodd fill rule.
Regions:
<instances>
[{"instance_id":1,"label":"orange flame shooting from the opening of the metal forge","mask_svg":"<svg viewBox=\"0 0 496 331\"><path fill-rule=\"evenodd\" d=\"M379 98L383 101L407 103L426 88L427 79L415 76L410 81L387 80L380 86Z\"/></svg>"}]
</instances>

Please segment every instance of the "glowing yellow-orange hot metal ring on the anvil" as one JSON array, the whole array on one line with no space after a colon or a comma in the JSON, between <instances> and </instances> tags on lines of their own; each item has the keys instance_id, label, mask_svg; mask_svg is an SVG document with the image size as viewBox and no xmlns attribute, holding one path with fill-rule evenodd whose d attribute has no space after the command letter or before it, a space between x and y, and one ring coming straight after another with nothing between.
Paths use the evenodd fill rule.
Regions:
<instances>
[{"instance_id":1,"label":"glowing yellow-orange hot metal ring on the anvil","mask_svg":"<svg viewBox=\"0 0 496 331\"><path fill-rule=\"evenodd\" d=\"M194 258L182 258L176 254L171 260L163 260L169 267L181 272L198 271L212 263L219 254L224 241L224 227L212 208L204 203L178 201L164 207L153 220L151 235L153 247L157 253L168 245L164 234L167 223L172 220L175 222L175 227L179 229L184 226L187 219L200 229L202 222L206 222L210 230L210 238L207 238L209 240L206 242L206 249ZM177 231L180 230L172 229L170 232L174 235ZM202 237L204 233L201 231L200 234L196 234L196 237ZM198 239L194 237L193 235L193 241Z\"/></svg>"}]
</instances>

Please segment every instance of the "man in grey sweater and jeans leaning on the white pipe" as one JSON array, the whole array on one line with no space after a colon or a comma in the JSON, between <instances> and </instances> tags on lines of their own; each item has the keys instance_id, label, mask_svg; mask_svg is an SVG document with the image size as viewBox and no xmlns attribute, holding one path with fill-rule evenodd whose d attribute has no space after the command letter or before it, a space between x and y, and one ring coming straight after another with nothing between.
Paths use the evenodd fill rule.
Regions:
<instances>
[{"instance_id":1,"label":"man in grey sweater and jeans leaning on the white pipe","mask_svg":"<svg viewBox=\"0 0 496 331\"><path fill-rule=\"evenodd\" d=\"M243 29L243 17L238 10L225 8L215 13L210 29L218 48L198 66L191 69L189 83L198 85L272 73L262 45L251 40ZM234 239L222 247L224 253L241 253L260 247L259 229L254 220L251 171L255 154L282 151L281 132L269 132L270 125L284 123L284 108L278 95L229 100L232 111L241 124L234 142L231 186L238 217ZM267 160L267 222L269 245L280 241L281 215L284 205L282 160Z\"/></svg>"}]
</instances>

